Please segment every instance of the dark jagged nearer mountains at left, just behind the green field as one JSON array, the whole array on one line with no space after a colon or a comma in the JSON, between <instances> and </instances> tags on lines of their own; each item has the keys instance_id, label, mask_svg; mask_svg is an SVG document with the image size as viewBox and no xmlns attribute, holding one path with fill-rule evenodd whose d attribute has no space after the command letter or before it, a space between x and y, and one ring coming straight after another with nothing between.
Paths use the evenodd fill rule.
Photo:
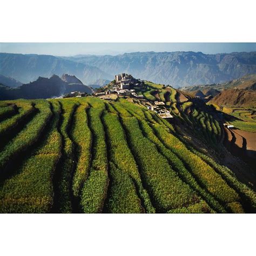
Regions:
<instances>
[{"instance_id":1,"label":"dark jagged nearer mountains at left, just behind the green field","mask_svg":"<svg viewBox=\"0 0 256 256\"><path fill-rule=\"evenodd\" d=\"M70 83L71 82L71 83ZM53 75L50 78L38 77L29 84L23 84L17 88L0 85L0 100L5 99L37 99L62 96L72 91L92 93L89 86L84 85L75 76L63 75L62 78Z\"/></svg>"}]
</instances>

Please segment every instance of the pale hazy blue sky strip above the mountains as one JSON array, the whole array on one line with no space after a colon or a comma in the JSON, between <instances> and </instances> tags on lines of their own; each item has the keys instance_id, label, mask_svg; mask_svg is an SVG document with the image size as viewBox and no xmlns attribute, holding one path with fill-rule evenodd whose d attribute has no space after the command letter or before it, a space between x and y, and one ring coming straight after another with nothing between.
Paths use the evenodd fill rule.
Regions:
<instances>
[{"instance_id":1,"label":"pale hazy blue sky strip above the mountains","mask_svg":"<svg viewBox=\"0 0 256 256\"><path fill-rule=\"evenodd\" d=\"M136 51L201 51L230 53L256 51L256 43L0 43L0 52L56 56L78 54L118 55Z\"/></svg>"}]
</instances>

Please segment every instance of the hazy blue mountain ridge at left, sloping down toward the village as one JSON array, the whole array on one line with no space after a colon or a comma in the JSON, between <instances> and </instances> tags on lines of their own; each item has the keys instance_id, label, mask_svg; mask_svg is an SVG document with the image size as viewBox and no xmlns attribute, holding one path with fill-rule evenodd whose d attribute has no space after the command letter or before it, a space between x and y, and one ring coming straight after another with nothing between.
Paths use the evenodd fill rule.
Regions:
<instances>
[{"instance_id":1,"label":"hazy blue mountain ridge at left, sloping down toward the village","mask_svg":"<svg viewBox=\"0 0 256 256\"><path fill-rule=\"evenodd\" d=\"M51 55L0 53L0 73L23 83L36 80L39 76L61 76L63 73L75 75L84 84L90 84L100 78L112 79L111 75L94 66Z\"/></svg>"}]
</instances>

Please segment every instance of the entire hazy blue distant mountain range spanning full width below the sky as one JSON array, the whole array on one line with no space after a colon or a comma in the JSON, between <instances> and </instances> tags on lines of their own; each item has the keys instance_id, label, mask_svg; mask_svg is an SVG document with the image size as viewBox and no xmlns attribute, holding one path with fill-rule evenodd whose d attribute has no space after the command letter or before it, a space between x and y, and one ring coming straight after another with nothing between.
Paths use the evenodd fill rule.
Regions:
<instances>
[{"instance_id":1,"label":"entire hazy blue distant mountain range spanning full width below the sky","mask_svg":"<svg viewBox=\"0 0 256 256\"><path fill-rule=\"evenodd\" d=\"M217 84L256 73L256 52L133 52L73 57L0 53L0 74L22 83L39 76L69 73L84 84L97 85L97 80L113 80L114 75L122 72L176 88Z\"/></svg>"}]
</instances>

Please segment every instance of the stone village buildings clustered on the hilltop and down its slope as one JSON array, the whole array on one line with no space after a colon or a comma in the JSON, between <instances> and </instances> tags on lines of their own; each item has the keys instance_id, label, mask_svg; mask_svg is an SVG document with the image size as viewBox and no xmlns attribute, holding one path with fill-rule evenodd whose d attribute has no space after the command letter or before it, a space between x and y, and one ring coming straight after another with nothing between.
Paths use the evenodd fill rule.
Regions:
<instances>
[{"instance_id":1,"label":"stone village buildings clustered on the hilltop and down its slope","mask_svg":"<svg viewBox=\"0 0 256 256\"><path fill-rule=\"evenodd\" d=\"M94 95L105 100L116 100L118 97L130 97L134 102L140 103L147 109L159 114L161 118L173 118L171 112L162 101L149 101L141 91L145 86L144 80L136 79L132 75L122 73L116 75L111 86L106 86L102 92L97 92Z\"/></svg>"}]
</instances>

